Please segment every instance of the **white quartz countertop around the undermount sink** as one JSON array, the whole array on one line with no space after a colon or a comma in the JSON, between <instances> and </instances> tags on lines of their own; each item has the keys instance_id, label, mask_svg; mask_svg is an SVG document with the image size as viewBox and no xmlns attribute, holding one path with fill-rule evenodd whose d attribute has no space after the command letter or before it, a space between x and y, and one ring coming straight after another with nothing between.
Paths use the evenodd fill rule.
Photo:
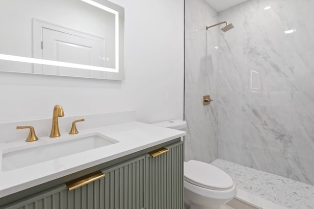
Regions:
<instances>
[{"instance_id":1,"label":"white quartz countertop around the undermount sink","mask_svg":"<svg viewBox=\"0 0 314 209\"><path fill-rule=\"evenodd\" d=\"M183 131L140 122L128 122L81 130L76 136L84 136L90 133L99 133L119 142L8 171L2 171L1 169L3 150L14 150L15 147L31 146L30 144L36 146L36 143L45 143L45 141L49 140L61 141L62 139L69 138L69 135L68 133L61 133L61 137L59 138L39 137L38 141L34 142L25 142L24 140L21 140L10 143L0 143L0 197L52 181L185 135L185 132ZM55 151L58 152L58 150ZM40 158L40 156L38 156L38 158ZM32 159L28 160L31 161Z\"/></svg>"}]
</instances>

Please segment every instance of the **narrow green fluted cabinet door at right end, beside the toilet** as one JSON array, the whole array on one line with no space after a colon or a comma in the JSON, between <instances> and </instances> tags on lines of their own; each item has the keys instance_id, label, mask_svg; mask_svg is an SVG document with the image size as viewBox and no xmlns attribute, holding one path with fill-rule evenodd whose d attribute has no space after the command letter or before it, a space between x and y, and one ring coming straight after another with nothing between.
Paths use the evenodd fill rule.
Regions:
<instances>
[{"instance_id":1,"label":"narrow green fluted cabinet door at right end, beside the toilet","mask_svg":"<svg viewBox=\"0 0 314 209\"><path fill-rule=\"evenodd\" d=\"M148 209L183 209L183 141L168 152L148 157Z\"/></svg>"}]
</instances>

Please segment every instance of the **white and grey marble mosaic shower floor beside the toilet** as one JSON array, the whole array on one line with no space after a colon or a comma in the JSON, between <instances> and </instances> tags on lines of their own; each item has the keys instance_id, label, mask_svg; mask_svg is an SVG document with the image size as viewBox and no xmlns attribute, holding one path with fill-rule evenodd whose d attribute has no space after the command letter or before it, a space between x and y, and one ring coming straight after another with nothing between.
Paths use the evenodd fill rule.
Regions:
<instances>
[{"instance_id":1,"label":"white and grey marble mosaic shower floor beside the toilet","mask_svg":"<svg viewBox=\"0 0 314 209\"><path fill-rule=\"evenodd\" d=\"M211 163L228 173L237 188L292 209L314 209L314 186L216 159Z\"/></svg>"}]
</instances>

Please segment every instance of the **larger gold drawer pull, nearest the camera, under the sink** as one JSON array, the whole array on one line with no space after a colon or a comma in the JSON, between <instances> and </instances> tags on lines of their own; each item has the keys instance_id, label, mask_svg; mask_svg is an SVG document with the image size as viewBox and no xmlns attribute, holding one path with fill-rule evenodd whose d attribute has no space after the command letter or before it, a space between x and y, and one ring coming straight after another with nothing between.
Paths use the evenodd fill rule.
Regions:
<instances>
[{"instance_id":1,"label":"larger gold drawer pull, nearest the camera, under the sink","mask_svg":"<svg viewBox=\"0 0 314 209\"><path fill-rule=\"evenodd\" d=\"M91 182L94 182L98 179L104 178L105 174L101 171L96 171L94 173L88 174L86 176L82 176L78 179L74 179L72 181L69 181L67 183L65 183L69 189L69 191L76 189L80 186L84 186L87 185Z\"/></svg>"}]
</instances>

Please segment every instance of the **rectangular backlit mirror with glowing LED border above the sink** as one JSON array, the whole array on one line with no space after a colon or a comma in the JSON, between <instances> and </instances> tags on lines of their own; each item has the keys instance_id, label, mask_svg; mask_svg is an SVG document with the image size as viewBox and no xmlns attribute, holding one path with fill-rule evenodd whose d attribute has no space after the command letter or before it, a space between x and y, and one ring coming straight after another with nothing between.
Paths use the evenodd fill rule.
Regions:
<instances>
[{"instance_id":1,"label":"rectangular backlit mirror with glowing LED border above the sink","mask_svg":"<svg viewBox=\"0 0 314 209\"><path fill-rule=\"evenodd\" d=\"M124 8L108 0L0 0L0 71L124 79Z\"/></svg>"}]
</instances>

